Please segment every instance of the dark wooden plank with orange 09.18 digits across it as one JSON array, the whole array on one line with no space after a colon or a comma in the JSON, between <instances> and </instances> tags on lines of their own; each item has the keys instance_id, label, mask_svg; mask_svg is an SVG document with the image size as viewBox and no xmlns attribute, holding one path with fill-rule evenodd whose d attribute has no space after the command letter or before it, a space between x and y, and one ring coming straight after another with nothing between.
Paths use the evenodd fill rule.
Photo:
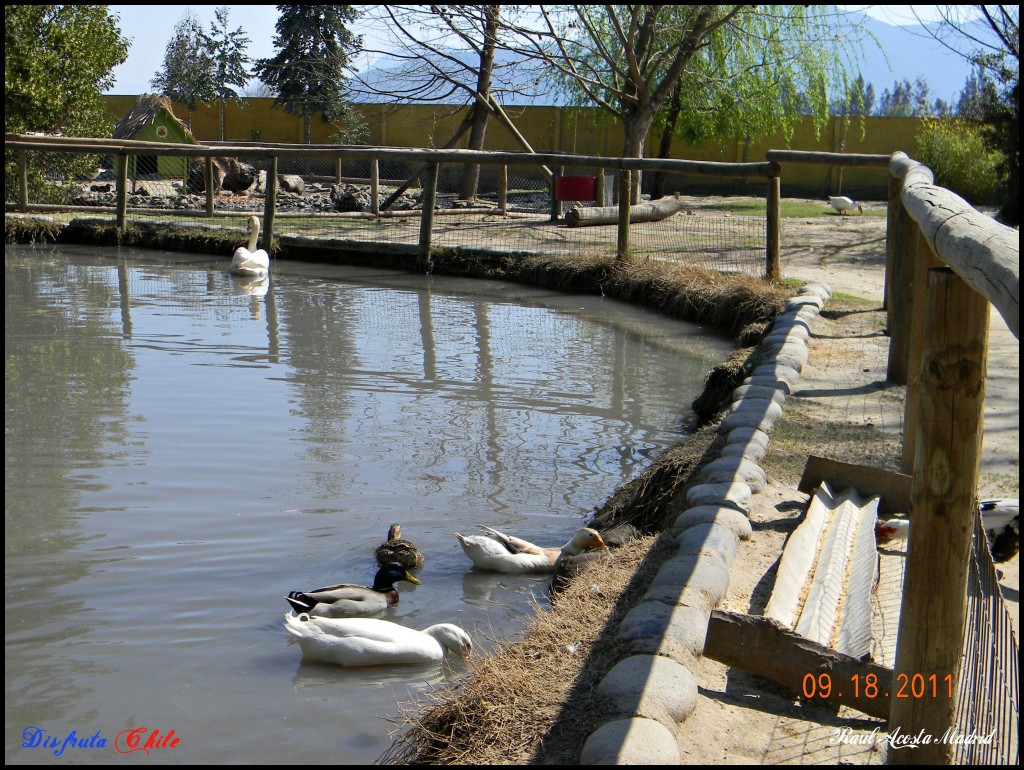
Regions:
<instances>
[{"instance_id":1,"label":"dark wooden plank with orange 09.18 digits across it","mask_svg":"<svg viewBox=\"0 0 1024 770\"><path fill-rule=\"evenodd\" d=\"M703 654L767 677L802 696L813 693L806 698L810 702L848 705L869 717L889 718L892 669L828 649L767 617L715 610Z\"/></svg>"}]
</instances>

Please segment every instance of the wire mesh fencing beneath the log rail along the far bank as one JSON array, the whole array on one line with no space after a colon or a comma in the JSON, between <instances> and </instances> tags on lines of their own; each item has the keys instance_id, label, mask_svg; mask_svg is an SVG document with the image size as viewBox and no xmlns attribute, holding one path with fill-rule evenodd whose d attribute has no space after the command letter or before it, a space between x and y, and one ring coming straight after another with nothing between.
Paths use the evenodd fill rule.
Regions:
<instances>
[{"instance_id":1,"label":"wire mesh fencing beneath the log rail along the far bank","mask_svg":"<svg viewBox=\"0 0 1024 770\"><path fill-rule=\"evenodd\" d=\"M359 244L364 253L366 247L427 254L446 248L591 257L624 256L628 249L631 257L766 272L765 216L667 204L668 213L656 220L634 221L631 213L624 234L615 174L629 170L622 159L215 142L202 155L204 147L196 145L103 141L8 137L8 168L17 153L26 176L40 182L23 182L22 189L5 184L6 208L88 211L118 217L119 224L167 220L238 230L240 239L245 218L256 214L264 232L284 243ZM61 164L71 158L74 169ZM639 163L670 178L694 170L764 178L770 168ZM558 179L590 187L584 185L581 199L567 185L568 193L560 189ZM597 211L600 221L572 226L567 214L583 210Z\"/></svg>"}]
</instances>

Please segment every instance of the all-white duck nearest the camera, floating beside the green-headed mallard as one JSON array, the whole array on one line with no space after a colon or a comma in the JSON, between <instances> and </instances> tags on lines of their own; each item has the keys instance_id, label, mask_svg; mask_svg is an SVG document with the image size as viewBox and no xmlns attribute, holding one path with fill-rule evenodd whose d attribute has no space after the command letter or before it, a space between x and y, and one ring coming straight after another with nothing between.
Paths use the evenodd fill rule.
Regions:
<instances>
[{"instance_id":1,"label":"all-white duck nearest the camera, floating beside the green-headed mallard","mask_svg":"<svg viewBox=\"0 0 1024 770\"><path fill-rule=\"evenodd\" d=\"M339 666L428 664L446 652L473 650L469 634L451 623L416 631L371 617L285 615L285 629L299 639L303 657Z\"/></svg>"}]
</instances>

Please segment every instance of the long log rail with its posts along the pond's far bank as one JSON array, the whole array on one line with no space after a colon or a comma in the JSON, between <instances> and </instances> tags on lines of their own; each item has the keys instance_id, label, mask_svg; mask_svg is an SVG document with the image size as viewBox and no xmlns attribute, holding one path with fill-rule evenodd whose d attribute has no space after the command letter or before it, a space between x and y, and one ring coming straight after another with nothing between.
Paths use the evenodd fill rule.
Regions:
<instances>
[{"instance_id":1,"label":"long log rail with its posts along the pond's far bank","mask_svg":"<svg viewBox=\"0 0 1024 770\"><path fill-rule=\"evenodd\" d=\"M379 183L378 165L382 161L398 161L419 164L423 169L423 199L432 202L436 199L436 181L441 164L478 164L499 167L499 212L506 213L504 202L507 199L507 168L508 166L532 165L539 168L570 168L598 169L599 173L607 170L614 172L622 179L628 178L633 171L663 171L667 173L698 174L705 176L731 178L763 178L768 182L767 201L767 257L765 275L771 281L781 279L779 268L779 236L778 236L778 173L779 166L771 161L762 163L716 163L706 161L658 160L651 158L603 158L597 156L575 156L556 153L510 153L457 148L403 148L378 146L345 146L337 144L265 144L250 142L206 142L203 144L175 144L133 139L102 139L82 137L58 137L44 135L6 134L5 148L17 154L19 163L20 195L15 204L7 204L7 208L18 211L29 210L27 163L29 152L85 153L111 156L115 159L118 174L118 201L116 206L117 224L120 229L127 225L127 162L132 155L160 155L172 157L188 157L202 159L207 178L211 175L213 158L260 158L267 161L266 206L264 209L263 240L264 249L271 249L274 229L273 217L276 195L276 163L281 159L309 158L330 160L336 164L343 161L369 161L371 165L371 183L376 179ZM502 180L506 188L502 188ZM206 215L220 215L214 209L214 185L207 184ZM772 196L772 189L776 195ZM377 197L372 196L373 210L371 213L381 213L376 207ZM620 259L630 255L629 228L629 197L620 197L618 230L616 233L615 254ZM98 210L98 209L93 209ZM434 216L434 207L424 206L423 222L420 228L420 253L422 265L429 266L430 237Z\"/></svg>"}]
</instances>

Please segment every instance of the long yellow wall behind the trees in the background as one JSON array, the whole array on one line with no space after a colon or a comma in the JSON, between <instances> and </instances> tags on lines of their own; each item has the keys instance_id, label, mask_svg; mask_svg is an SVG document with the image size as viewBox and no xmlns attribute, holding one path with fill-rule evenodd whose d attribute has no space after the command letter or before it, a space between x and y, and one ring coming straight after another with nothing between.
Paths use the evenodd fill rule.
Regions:
<instances>
[{"instance_id":1,"label":"long yellow wall behind the trees in the background","mask_svg":"<svg viewBox=\"0 0 1024 770\"><path fill-rule=\"evenodd\" d=\"M115 120L120 120L135 102L136 96L106 96L108 108ZM367 144L399 147L443 146L458 128L466 108L436 104L355 104L367 123ZM615 157L622 153L623 130L617 121L596 108L528 106L507 110L516 127L535 151L562 152L580 155ZM188 122L188 110L175 104L177 117ZM302 120L273 106L271 98L246 98L244 106L228 102L225 106L224 138L231 141L266 141L301 143ZM816 135L810 118L798 126L787 143L783 136L771 136L744 147L743 142L709 142L703 146L686 144L676 139L672 157L685 160L719 162L763 161L767 149L803 149L821 152L871 153L889 155L903 151L913 155L921 121L915 118L867 118L864 135L859 121L844 128L843 121L833 118ZM219 138L218 109L201 104L191 115L191 130L200 141ZM313 119L312 141L330 143L338 127ZM647 156L657 152L659 135L651 135ZM845 146L844 146L845 144ZM458 146L465 146L465 137ZM522 146L497 119L487 124L486 148L521 151ZM760 182L699 177L680 179L676 185L694 191L718 189L724 193L760 195ZM782 195L823 196L826 193L849 193L855 198L883 198L886 173L879 169L826 169L794 164L782 176ZM670 186L670 189L672 186Z\"/></svg>"}]
</instances>

